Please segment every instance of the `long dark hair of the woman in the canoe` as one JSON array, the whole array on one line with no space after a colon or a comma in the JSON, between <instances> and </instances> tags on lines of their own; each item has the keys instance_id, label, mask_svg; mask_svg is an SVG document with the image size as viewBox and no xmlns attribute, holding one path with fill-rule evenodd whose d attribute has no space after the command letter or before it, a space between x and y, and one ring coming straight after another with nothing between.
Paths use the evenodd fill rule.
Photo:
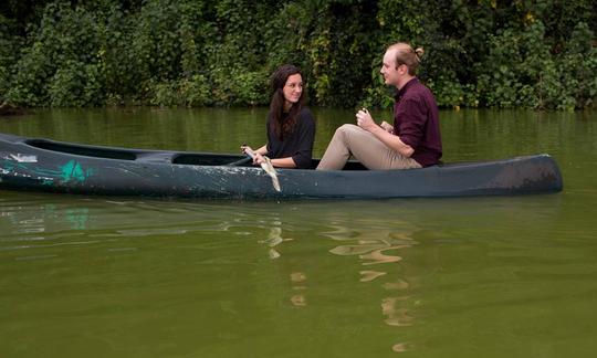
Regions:
<instances>
[{"instance_id":1,"label":"long dark hair of the woman in the canoe","mask_svg":"<svg viewBox=\"0 0 597 358\"><path fill-rule=\"evenodd\" d=\"M294 130L294 126L296 125L296 120L298 119L298 114L301 113L301 109L303 109L303 105L305 102L306 95L305 87L303 86L303 92L301 93L298 102L292 104L287 114L287 118L283 120L285 117L285 99L283 88L289 77L294 74L301 74L301 70L291 64L281 65L272 74L273 94L272 101L270 102L270 117L273 130L277 138L280 138L280 140L284 140L284 137L286 137Z\"/></svg>"}]
</instances>

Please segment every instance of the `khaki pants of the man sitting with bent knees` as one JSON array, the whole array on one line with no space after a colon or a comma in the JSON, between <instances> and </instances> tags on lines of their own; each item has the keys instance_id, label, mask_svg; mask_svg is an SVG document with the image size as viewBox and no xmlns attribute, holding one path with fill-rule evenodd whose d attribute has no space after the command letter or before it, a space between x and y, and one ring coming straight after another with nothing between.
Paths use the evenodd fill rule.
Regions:
<instances>
[{"instance_id":1,"label":"khaki pants of the man sitting with bent knees","mask_svg":"<svg viewBox=\"0 0 597 358\"><path fill-rule=\"evenodd\" d=\"M353 155L367 169L421 168L415 159L388 148L369 131L350 124L343 125L329 141L317 170L339 170Z\"/></svg>"}]
</instances>

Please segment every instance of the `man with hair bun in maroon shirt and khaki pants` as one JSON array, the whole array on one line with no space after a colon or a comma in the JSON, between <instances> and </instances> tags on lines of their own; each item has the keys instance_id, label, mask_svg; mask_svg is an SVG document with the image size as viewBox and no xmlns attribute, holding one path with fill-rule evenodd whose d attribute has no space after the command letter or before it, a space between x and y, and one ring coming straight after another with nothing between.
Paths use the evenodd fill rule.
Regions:
<instances>
[{"instance_id":1,"label":"man with hair bun in maroon shirt and khaki pants","mask_svg":"<svg viewBox=\"0 0 597 358\"><path fill-rule=\"evenodd\" d=\"M377 125L367 109L359 110L357 126L336 129L317 170L339 170L350 155L368 169L412 169L439 162L438 105L431 91L416 77L422 53L407 43L387 49L380 73L387 85L398 88L394 125Z\"/></svg>"}]
</instances>

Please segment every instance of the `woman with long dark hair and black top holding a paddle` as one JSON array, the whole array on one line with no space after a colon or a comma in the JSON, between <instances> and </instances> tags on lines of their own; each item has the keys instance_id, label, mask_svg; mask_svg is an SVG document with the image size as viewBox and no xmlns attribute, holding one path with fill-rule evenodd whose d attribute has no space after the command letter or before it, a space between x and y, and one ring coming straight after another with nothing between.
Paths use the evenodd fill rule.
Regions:
<instances>
[{"instance_id":1,"label":"woman with long dark hair and black top holding a paddle","mask_svg":"<svg viewBox=\"0 0 597 358\"><path fill-rule=\"evenodd\" d=\"M291 64L280 66L272 75L272 90L268 143L254 151L253 164L260 165L265 161L263 156L269 156L274 167L310 169L315 120L304 106L301 70ZM244 151L249 147L241 148Z\"/></svg>"}]
</instances>

